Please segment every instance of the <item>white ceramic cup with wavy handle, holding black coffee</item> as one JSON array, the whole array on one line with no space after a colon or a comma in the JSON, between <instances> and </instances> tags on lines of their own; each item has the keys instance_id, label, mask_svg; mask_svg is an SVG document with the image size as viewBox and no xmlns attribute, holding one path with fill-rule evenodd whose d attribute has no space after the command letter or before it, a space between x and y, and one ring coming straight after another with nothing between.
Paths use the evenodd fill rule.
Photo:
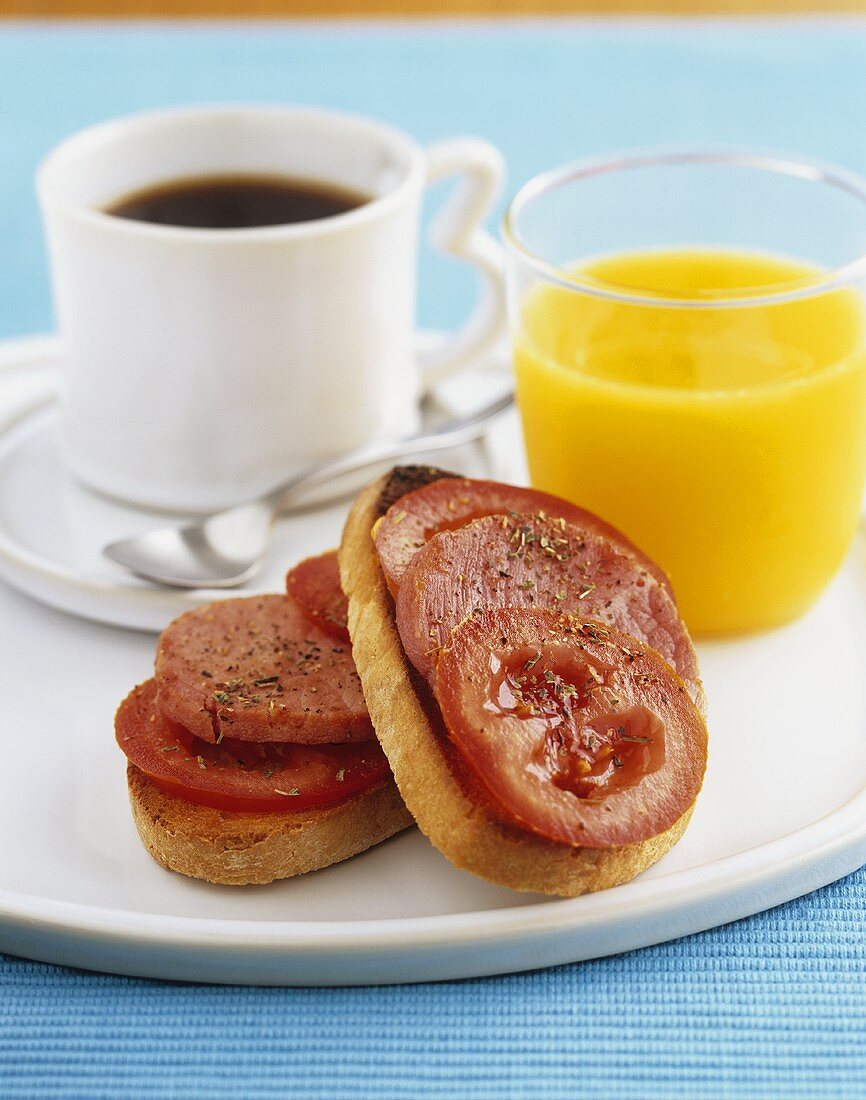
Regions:
<instances>
[{"instance_id":1,"label":"white ceramic cup with wavy handle, holding black coffee","mask_svg":"<svg viewBox=\"0 0 866 1100\"><path fill-rule=\"evenodd\" d=\"M191 229L103 208L215 174L278 174L370 195L317 221ZM425 184L464 183L435 226L474 265L469 322L417 363ZM69 138L37 174L65 348L74 474L139 505L208 510L294 470L412 431L423 388L503 328L498 246L480 228L502 157L458 139L421 148L382 122L307 107L149 112Z\"/></svg>"}]
</instances>

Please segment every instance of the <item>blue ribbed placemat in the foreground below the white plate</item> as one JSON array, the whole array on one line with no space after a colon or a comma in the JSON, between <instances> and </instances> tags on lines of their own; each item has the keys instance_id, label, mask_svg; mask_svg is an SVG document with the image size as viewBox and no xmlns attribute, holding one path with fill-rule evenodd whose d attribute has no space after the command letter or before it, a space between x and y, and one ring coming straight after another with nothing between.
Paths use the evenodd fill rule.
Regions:
<instances>
[{"instance_id":1,"label":"blue ribbed placemat in the foreground below the white plate","mask_svg":"<svg viewBox=\"0 0 866 1100\"><path fill-rule=\"evenodd\" d=\"M480 981L251 989L0 967L0 1094L866 1097L866 875L700 936Z\"/></svg>"}]
</instances>

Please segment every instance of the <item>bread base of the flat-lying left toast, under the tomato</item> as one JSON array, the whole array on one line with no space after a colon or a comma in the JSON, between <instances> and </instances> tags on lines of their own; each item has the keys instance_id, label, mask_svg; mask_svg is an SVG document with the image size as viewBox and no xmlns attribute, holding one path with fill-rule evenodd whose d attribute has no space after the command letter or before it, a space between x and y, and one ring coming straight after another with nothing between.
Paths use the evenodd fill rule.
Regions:
<instances>
[{"instance_id":1,"label":"bread base of the flat-lying left toast, under the tomato","mask_svg":"<svg viewBox=\"0 0 866 1100\"><path fill-rule=\"evenodd\" d=\"M392 780L321 810L228 813L161 790L127 766L132 816L157 864L194 879L249 886L305 875L372 848L413 824Z\"/></svg>"}]
</instances>

